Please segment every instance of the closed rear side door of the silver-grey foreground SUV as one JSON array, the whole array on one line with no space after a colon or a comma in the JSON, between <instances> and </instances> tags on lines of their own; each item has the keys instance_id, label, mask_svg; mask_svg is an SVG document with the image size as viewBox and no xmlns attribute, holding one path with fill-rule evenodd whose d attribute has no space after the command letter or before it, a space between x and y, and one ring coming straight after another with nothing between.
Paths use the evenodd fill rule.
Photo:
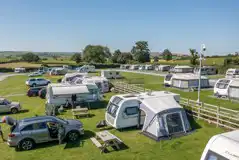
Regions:
<instances>
[{"instance_id":1,"label":"closed rear side door of the silver-grey foreground SUV","mask_svg":"<svg viewBox=\"0 0 239 160\"><path fill-rule=\"evenodd\" d=\"M38 143L48 142L50 140L49 130L45 122L33 124L32 136Z\"/></svg>"}]
</instances>

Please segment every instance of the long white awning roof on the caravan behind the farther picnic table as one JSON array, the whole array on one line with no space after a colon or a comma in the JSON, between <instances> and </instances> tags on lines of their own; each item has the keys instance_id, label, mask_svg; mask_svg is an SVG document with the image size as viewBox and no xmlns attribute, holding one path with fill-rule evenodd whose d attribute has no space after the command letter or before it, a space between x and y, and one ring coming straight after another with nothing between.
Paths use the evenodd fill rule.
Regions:
<instances>
[{"instance_id":1,"label":"long white awning roof on the caravan behind the farther picnic table","mask_svg":"<svg viewBox=\"0 0 239 160\"><path fill-rule=\"evenodd\" d=\"M53 95L65 95L65 94L79 94L79 93L89 93L86 85L71 85L71 86L61 86L52 87Z\"/></svg>"}]
</instances>

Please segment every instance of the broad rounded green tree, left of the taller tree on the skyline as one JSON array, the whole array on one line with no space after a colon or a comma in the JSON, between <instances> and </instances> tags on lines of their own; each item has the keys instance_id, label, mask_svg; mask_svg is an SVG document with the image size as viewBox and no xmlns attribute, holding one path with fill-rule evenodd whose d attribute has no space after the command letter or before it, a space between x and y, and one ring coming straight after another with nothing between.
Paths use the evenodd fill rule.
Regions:
<instances>
[{"instance_id":1,"label":"broad rounded green tree, left of the taller tree on the skyline","mask_svg":"<svg viewBox=\"0 0 239 160\"><path fill-rule=\"evenodd\" d=\"M86 62L104 63L110 57L110 50L105 46L87 45L83 50L83 58Z\"/></svg>"}]
</instances>

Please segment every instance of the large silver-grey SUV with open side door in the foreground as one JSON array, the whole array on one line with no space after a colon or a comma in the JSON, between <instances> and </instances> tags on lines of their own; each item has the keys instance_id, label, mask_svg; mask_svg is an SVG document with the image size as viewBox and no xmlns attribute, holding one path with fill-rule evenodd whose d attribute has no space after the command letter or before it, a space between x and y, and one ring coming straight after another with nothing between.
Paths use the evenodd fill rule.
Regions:
<instances>
[{"instance_id":1,"label":"large silver-grey SUV with open side door in the foreground","mask_svg":"<svg viewBox=\"0 0 239 160\"><path fill-rule=\"evenodd\" d=\"M78 120L37 116L16 121L11 127L8 145L20 150L30 150L35 144L58 140L59 125L64 127L65 140L74 142L84 134L83 124Z\"/></svg>"}]
</instances>

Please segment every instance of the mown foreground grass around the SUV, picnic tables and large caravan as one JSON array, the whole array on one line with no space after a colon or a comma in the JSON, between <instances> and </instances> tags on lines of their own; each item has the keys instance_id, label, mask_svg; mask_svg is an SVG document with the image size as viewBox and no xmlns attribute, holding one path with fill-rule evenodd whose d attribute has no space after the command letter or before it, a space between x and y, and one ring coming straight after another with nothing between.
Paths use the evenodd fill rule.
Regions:
<instances>
[{"instance_id":1,"label":"mown foreground grass around the SUV, picnic tables and large caravan","mask_svg":"<svg viewBox=\"0 0 239 160\"><path fill-rule=\"evenodd\" d=\"M126 74L124 74L127 76ZM128 75L127 77L136 77L136 74ZM141 75L142 77L142 75ZM59 77L47 77L52 79L54 82ZM25 80L27 76L15 76L9 77L4 81L0 82L0 96L8 96L14 94L25 94L26 86ZM145 81L158 82L161 78L145 76ZM145 84L146 87L153 88L157 84ZM159 88L160 89L160 88ZM112 96L112 93L107 93L105 101L107 102ZM16 119L25 117L44 115L44 103L45 100L39 97L29 98L25 95L22 96L11 96L8 99L13 101L19 101L25 111L11 115ZM216 128L214 125L207 124L203 121L191 120L193 128L196 128L192 134L172 140L155 142L150 138L141 135L140 130L130 129L118 131L115 129L110 130L111 133L118 136L127 146L128 149L121 151L114 151L106 154L100 154L98 148L96 148L90 141L90 137L94 135L94 132L99 131L96 129L96 123L104 119L106 103L99 104L98 109L91 110L91 114L94 116L91 118L80 119L85 128L85 136L81 138L78 144L62 144L58 145L57 142L41 144L36 149L25 152L17 152L13 148L9 148L7 144L0 143L0 159L1 160L113 160L113 159L162 159L162 160L198 160L202 154L202 151L210 139L211 136L224 132L221 128ZM5 114L3 114L5 115ZM1 116L3 116L1 115ZM70 112L62 115L64 118L72 118ZM4 124L3 131L5 137L8 134L8 127Z\"/></svg>"}]
</instances>

